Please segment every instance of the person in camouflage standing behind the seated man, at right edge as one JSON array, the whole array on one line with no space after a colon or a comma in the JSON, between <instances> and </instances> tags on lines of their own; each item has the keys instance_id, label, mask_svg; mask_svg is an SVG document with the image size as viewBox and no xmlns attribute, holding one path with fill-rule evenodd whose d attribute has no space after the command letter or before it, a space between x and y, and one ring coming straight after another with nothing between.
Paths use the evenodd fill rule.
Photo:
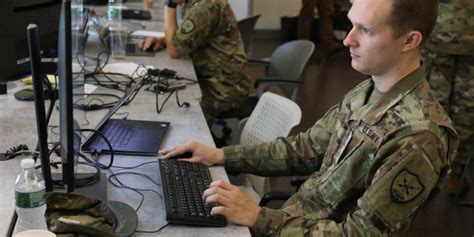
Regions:
<instances>
[{"instance_id":1,"label":"person in camouflage standing behind the seated man, at right edge","mask_svg":"<svg viewBox=\"0 0 474 237\"><path fill-rule=\"evenodd\" d=\"M433 93L459 134L459 151L447 191L462 193L469 184L461 180L461 172L474 145L474 1L440 1L424 58Z\"/></svg>"}]
</instances>

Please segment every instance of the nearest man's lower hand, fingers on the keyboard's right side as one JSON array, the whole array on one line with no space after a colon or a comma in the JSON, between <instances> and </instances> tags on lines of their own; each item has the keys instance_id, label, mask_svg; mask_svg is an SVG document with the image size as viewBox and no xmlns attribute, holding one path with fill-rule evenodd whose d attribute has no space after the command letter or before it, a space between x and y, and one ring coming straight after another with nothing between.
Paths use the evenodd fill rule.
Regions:
<instances>
[{"instance_id":1,"label":"nearest man's lower hand, fingers on the keyboard's right side","mask_svg":"<svg viewBox=\"0 0 474 237\"><path fill-rule=\"evenodd\" d=\"M257 220L260 207L252 202L239 187L226 181L217 180L203 193L203 200L208 205L215 205L212 215L223 215L232 223L253 226Z\"/></svg>"}]
</instances>

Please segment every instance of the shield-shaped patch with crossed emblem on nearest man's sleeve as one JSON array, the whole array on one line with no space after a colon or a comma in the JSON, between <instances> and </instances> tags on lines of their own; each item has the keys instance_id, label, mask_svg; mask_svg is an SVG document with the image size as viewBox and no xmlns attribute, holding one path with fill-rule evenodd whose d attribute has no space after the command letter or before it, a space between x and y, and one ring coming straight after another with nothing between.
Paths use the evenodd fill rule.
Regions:
<instances>
[{"instance_id":1,"label":"shield-shaped patch with crossed emblem on nearest man's sleeve","mask_svg":"<svg viewBox=\"0 0 474 237\"><path fill-rule=\"evenodd\" d=\"M424 189L416 174L403 169L392 181L390 197L395 203L407 203L415 199Z\"/></svg>"}]
</instances>

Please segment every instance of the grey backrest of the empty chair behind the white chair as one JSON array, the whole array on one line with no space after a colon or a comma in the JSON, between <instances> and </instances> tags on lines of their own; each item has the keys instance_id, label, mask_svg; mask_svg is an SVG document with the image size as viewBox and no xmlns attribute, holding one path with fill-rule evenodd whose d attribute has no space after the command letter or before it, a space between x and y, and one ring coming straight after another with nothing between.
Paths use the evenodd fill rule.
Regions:
<instances>
[{"instance_id":1,"label":"grey backrest of the empty chair behind the white chair","mask_svg":"<svg viewBox=\"0 0 474 237\"><path fill-rule=\"evenodd\" d=\"M294 40L281 45L272 54L266 77L300 80L313 51L314 43L309 40ZM288 98L296 100L298 87L279 88Z\"/></svg>"}]
</instances>

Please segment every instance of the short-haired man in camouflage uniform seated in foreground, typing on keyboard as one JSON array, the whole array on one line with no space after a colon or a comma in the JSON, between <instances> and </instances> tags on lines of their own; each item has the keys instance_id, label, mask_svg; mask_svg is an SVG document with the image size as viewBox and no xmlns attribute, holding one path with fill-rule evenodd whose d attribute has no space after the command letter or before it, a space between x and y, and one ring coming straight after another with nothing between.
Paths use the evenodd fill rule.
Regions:
<instances>
[{"instance_id":1,"label":"short-haired man in camouflage uniform seated in foreground, typing on keyboard","mask_svg":"<svg viewBox=\"0 0 474 237\"><path fill-rule=\"evenodd\" d=\"M393 8L393 9L392 9ZM372 75L305 133L253 146L190 142L190 162L230 173L311 175L280 209L259 207L238 187L214 181L212 214L255 236L382 236L406 230L446 174L458 147L449 117L424 80L420 45L436 21L436 0L355 0L344 40L352 67Z\"/></svg>"}]
</instances>

